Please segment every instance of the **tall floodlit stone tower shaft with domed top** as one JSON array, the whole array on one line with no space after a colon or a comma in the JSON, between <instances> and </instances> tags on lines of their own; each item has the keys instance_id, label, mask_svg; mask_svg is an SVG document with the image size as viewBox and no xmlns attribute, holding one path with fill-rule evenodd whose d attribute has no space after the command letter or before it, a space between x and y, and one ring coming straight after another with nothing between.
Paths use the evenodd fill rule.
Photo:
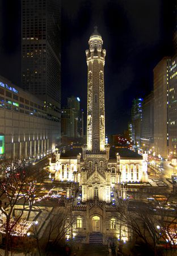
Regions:
<instances>
[{"instance_id":1,"label":"tall floodlit stone tower shaft with domed top","mask_svg":"<svg viewBox=\"0 0 177 256\"><path fill-rule=\"evenodd\" d=\"M91 34L86 50L87 77L87 150L104 150L104 61L106 50L102 49L102 36L97 31Z\"/></svg>"}]
</instances>

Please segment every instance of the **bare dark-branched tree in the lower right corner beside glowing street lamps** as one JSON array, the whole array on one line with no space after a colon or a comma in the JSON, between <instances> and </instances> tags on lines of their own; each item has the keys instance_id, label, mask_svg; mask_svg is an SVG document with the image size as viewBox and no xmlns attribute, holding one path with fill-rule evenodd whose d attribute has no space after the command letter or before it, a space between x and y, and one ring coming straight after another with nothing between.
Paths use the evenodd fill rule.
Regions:
<instances>
[{"instance_id":1,"label":"bare dark-branched tree in the lower right corner beside glowing street lamps","mask_svg":"<svg viewBox=\"0 0 177 256\"><path fill-rule=\"evenodd\" d=\"M165 201L156 201L154 204L140 204L129 208L128 202L120 203L118 220L126 225L134 240L141 241L151 248L154 255L158 255L158 244L166 241L172 247L176 243L176 209L168 205L171 196Z\"/></svg>"}]
</instances>

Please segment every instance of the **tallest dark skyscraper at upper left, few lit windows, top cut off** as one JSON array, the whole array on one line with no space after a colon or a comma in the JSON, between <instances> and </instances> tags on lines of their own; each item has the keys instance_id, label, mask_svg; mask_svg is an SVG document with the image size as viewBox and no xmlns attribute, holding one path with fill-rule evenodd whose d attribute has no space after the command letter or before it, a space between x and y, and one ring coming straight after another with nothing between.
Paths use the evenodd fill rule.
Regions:
<instances>
[{"instance_id":1,"label":"tallest dark skyscraper at upper left, few lit windows, top cut off","mask_svg":"<svg viewBox=\"0 0 177 256\"><path fill-rule=\"evenodd\" d=\"M22 88L61 115L60 0L22 0ZM60 140L60 124L58 135Z\"/></svg>"}]
</instances>

